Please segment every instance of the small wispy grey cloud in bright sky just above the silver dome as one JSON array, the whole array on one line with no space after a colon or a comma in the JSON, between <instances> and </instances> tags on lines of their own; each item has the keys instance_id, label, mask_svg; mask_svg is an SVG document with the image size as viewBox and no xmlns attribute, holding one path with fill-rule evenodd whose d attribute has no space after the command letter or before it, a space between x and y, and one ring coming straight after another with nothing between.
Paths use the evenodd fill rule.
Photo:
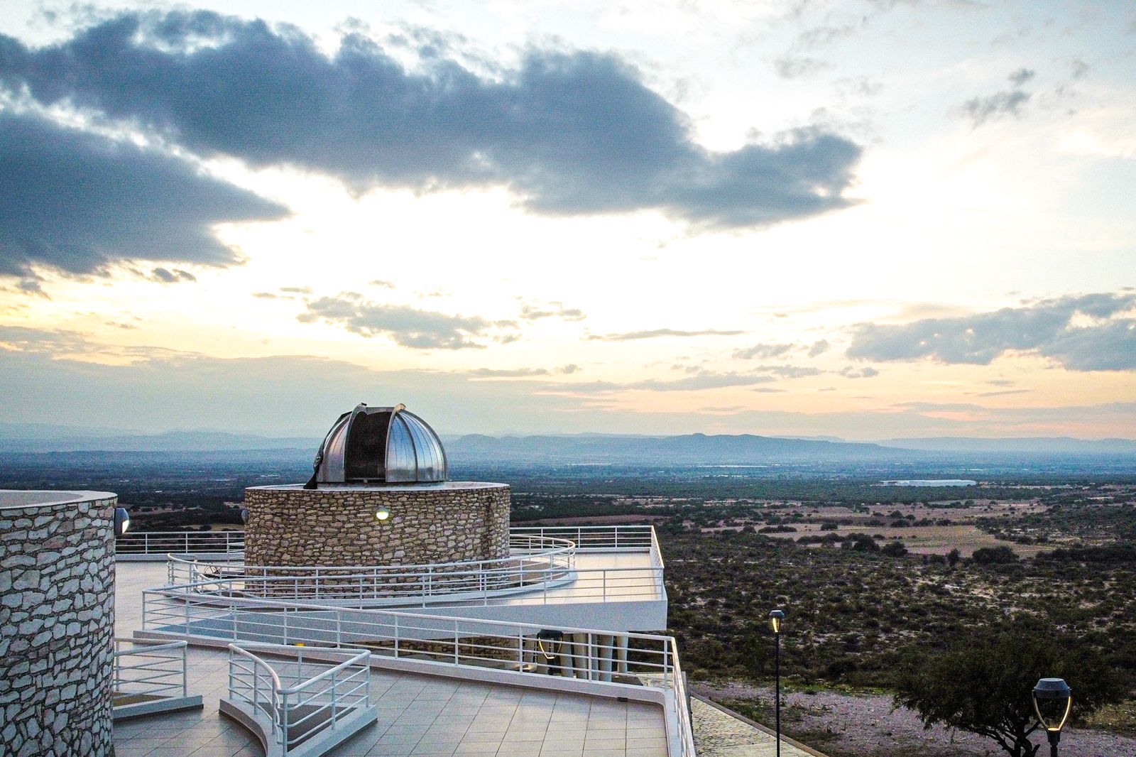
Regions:
<instances>
[{"instance_id":1,"label":"small wispy grey cloud in bright sky just above the silver dome","mask_svg":"<svg viewBox=\"0 0 1136 757\"><path fill-rule=\"evenodd\" d=\"M402 305L378 305L354 292L320 297L307 303L296 316L300 323L324 322L342 326L360 336L387 336L411 349L481 349L474 341L492 335L504 323L491 323L477 316L457 316L416 310Z\"/></svg>"}]
</instances>

